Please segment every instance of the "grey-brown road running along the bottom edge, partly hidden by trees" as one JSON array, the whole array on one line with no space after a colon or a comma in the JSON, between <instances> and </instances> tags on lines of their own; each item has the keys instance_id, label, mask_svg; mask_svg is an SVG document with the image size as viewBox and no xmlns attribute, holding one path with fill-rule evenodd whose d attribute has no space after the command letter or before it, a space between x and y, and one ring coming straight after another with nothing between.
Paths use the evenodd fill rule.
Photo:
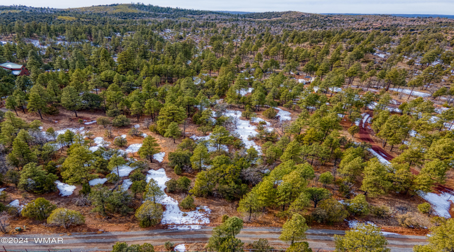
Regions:
<instances>
[{"instance_id":1,"label":"grey-brown road running along the bottom edge, partly hidden by trees","mask_svg":"<svg viewBox=\"0 0 454 252\"><path fill-rule=\"evenodd\" d=\"M248 243L259 238L266 238L271 244L280 244L282 241L278 239L280 235L280 228L252 228L245 227L237 238L243 242ZM15 235L4 237L28 238L28 243L14 244L3 243L7 250L28 248L28 249L71 249L72 251L96 251L96 250L110 250L112 245L117 241L128 244L142 244L145 242L153 245L162 245L165 241L169 240L175 244L179 243L194 243L206 242L211 236L212 228L203 227L198 230L149 230L149 231L133 231L133 232L106 232L102 234L72 234L70 236L63 234L55 234L50 236L45 235ZM343 235L342 230L325 230L325 229L310 229L307 231L307 241L310 246L314 248L334 248L334 234ZM4 238L2 237L2 238ZM390 234L385 235L389 242L391 251L412 251L412 247L416 244L426 244L425 236L407 236ZM63 243L39 243L35 242L35 238L62 238ZM0 239L2 240L2 239ZM315 251L315 250L314 250Z\"/></svg>"}]
</instances>

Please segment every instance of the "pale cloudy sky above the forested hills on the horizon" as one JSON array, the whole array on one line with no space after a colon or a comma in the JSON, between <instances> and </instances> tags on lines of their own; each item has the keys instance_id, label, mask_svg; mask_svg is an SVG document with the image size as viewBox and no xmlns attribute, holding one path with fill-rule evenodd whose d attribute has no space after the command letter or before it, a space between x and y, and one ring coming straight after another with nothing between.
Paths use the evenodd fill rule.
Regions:
<instances>
[{"instance_id":1,"label":"pale cloudy sky above the forested hills on the horizon","mask_svg":"<svg viewBox=\"0 0 454 252\"><path fill-rule=\"evenodd\" d=\"M33 7L76 8L131 2L130 0L22 0L20 4ZM0 5L11 5L11 3L0 0ZM210 11L454 15L454 0L142 0L140 3Z\"/></svg>"}]
</instances>

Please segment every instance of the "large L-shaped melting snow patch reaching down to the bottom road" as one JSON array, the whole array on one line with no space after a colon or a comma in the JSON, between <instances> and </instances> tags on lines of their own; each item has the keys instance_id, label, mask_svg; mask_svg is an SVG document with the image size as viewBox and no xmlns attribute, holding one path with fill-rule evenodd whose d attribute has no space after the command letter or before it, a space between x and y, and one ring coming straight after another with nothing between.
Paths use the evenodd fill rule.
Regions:
<instances>
[{"instance_id":1,"label":"large L-shaped melting snow patch reaching down to the bottom road","mask_svg":"<svg viewBox=\"0 0 454 252\"><path fill-rule=\"evenodd\" d=\"M150 179L156 180L162 191L165 189L165 182L170 180L163 168L159 170L149 170L147 174L147 183ZM208 215L211 210L206 206L197 207L197 210L191 212L182 212L178 206L178 201L164 194L164 198L159 202L165 205L165 211L162 215L162 224L205 224L210 223ZM200 211L202 210L202 211ZM183 216L185 214L186 216ZM191 226L188 226L191 229ZM194 228L198 229L198 228Z\"/></svg>"}]
</instances>

